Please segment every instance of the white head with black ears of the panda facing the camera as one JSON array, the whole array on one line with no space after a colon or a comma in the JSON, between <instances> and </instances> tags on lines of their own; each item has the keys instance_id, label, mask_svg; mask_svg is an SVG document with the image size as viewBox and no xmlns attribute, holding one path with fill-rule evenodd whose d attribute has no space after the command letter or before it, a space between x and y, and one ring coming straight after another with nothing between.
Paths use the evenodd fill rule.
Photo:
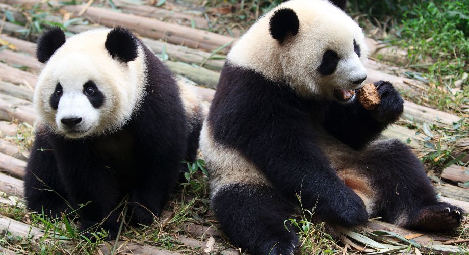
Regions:
<instances>
[{"instance_id":1,"label":"white head with black ears of the panda facing the camera","mask_svg":"<svg viewBox=\"0 0 469 255\"><path fill-rule=\"evenodd\" d=\"M145 60L128 30L91 30L65 39L45 32L37 59L45 63L35 88L40 122L69 139L112 133L138 109L145 91Z\"/></svg>"}]
</instances>

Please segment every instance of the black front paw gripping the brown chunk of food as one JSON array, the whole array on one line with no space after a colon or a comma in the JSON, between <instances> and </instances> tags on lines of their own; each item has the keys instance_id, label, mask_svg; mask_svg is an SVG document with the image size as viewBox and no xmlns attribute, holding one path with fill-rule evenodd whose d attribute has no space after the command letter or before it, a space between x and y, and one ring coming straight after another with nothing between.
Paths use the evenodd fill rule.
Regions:
<instances>
[{"instance_id":1,"label":"black front paw gripping the brown chunk of food","mask_svg":"<svg viewBox=\"0 0 469 255\"><path fill-rule=\"evenodd\" d=\"M404 111L404 100L389 82L376 82L375 87L381 97L381 103L379 103L373 115L381 123L393 123L399 119Z\"/></svg>"}]
</instances>

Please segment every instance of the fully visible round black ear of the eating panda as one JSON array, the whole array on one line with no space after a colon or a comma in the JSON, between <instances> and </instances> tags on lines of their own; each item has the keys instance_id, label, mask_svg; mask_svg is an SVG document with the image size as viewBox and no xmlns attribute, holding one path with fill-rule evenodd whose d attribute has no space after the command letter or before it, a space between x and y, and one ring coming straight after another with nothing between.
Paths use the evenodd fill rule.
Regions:
<instances>
[{"instance_id":1,"label":"fully visible round black ear of the eating panda","mask_svg":"<svg viewBox=\"0 0 469 255\"><path fill-rule=\"evenodd\" d=\"M280 43L288 36L295 36L299 29L300 20L295 11L289 8L276 10L269 21L270 35Z\"/></svg>"}]
</instances>

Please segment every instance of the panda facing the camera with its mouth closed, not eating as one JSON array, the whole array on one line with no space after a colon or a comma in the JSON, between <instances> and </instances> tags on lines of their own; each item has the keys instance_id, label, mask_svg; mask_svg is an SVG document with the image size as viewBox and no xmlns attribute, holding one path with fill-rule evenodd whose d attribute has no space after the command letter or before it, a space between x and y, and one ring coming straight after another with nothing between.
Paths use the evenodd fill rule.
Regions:
<instances>
[{"instance_id":1,"label":"panda facing the camera with its mouth closed, not eating","mask_svg":"<svg viewBox=\"0 0 469 255\"><path fill-rule=\"evenodd\" d=\"M122 202L148 225L194 160L200 101L134 34L98 29L37 44L45 63L34 94L35 142L25 175L28 208L60 217L77 210L85 236L118 233ZM84 206L83 206L84 205Z\"/></svg>"}]
</instances>

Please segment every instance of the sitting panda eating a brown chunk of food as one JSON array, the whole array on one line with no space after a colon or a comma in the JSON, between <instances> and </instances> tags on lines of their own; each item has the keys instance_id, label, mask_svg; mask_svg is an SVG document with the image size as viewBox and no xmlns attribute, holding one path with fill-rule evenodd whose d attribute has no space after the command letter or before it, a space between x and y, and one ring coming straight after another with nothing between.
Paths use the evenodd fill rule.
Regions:
<instances>
[{"instance_id":1,"label":"sitting panda eating a brown chunk of food","mask_svg":"<svg viewBox=\"0 0 469 255\"><path fill-rule=\"evenodd\" d=\"M403 99L385 81L375 83L376 110L356 99L368 49L345 5L284 2L227 56L200 149L211 207L249 253L295 252L299 230L285 221L301 208L332 233L378 216L425 231L461 223L462 210L438 200L405 144L377 140L403 112Z\"/></svg>"}]
</instances>

